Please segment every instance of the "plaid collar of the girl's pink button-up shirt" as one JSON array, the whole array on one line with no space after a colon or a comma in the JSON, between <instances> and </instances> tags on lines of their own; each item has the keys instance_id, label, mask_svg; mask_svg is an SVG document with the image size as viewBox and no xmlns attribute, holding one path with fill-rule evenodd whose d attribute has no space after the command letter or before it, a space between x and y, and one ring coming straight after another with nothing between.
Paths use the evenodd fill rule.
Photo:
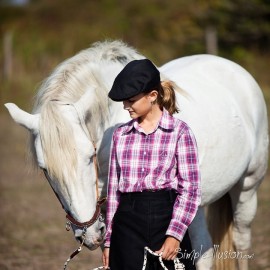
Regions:
<instances>
[{"instance_id":1,"label":"plaid collar of the girl's pink button-up shirt","mask_svg":"<svg viewBox=\"0 0 270 270\"><path fill-rule=\"evenodd\" d=\"M160 121L158 123L158 127L161 127L163 129L172 130L174 128L174 118L169 114L169 112L163 108L162 116L160 118ZM130 132L133 128L138 130L139 123L138 119L133 119L127 123L126 128L123 130L123 133Z\"/></svg>"}]
</instances>

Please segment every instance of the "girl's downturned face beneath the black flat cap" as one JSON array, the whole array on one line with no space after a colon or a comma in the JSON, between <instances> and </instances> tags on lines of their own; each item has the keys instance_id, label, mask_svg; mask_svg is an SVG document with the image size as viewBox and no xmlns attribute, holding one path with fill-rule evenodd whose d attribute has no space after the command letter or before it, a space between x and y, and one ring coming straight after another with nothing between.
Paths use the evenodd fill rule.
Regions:
<instances>
[{"instance_id":1,"label":"girl's downturned face beneath the black flat cap","mask_svg":"<svg viewBox=\"0 0 270 270\"><path fill-rule=\"evenodd\" d=\"M151 111L151 102L155 101L156 99L152 92L149 94L142 93L123 101L124 109L129 112L131 118L135 119L145 116Z\"/></svg>"}]
</instances>

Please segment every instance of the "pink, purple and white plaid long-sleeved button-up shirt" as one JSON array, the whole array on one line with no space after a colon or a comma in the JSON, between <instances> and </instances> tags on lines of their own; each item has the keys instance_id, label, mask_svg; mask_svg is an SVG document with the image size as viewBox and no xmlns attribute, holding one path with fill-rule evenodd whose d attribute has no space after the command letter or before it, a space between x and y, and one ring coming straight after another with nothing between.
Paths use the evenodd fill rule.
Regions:
<instances>
[{"instance_id":1,"label":"pink, purple and white plaid long-sleeved button-up shirt","mask_svg":"<svg viewBox=\"0 0 270 270\"><path fill-rule=\"evenodd\" d=\"M143 131L136 119L118 127L111 146L105 246L110 246L120 194L146 189L178 192L166 235L181 241L200 204L198 163L192 131L165 109L157 128L150 134Z\"/></svg>"}]
</instances>

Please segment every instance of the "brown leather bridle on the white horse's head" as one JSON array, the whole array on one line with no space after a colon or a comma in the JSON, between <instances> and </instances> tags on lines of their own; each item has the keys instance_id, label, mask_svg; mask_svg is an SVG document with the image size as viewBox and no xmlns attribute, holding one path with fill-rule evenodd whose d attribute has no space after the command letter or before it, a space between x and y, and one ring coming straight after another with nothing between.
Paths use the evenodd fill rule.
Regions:
<instances>
[{"instance_id":1,"label":"brown leather bridle on the white horse's head","mask_svg":"<svg viewBox=\"0 0 270 270\"><path fill-rule=\"evenodd\" d=\"M52 190L54 191L57 199L59 200L62 208L64 209L64 211L66 212L66 230L69 231L71 228L71 225L74 225L80 229L82 229L82 235L81 235L81 244L79 246L79 248L77 248L75 251L72 252L72 254L69 256L69 258L66 260L65 264L64 264L64 270L67 268L68 263L70 262L71 259L73 259L77 254L79 254L79 252L82 250L85 238L86 238L86 231L87 229L92 226L98 219L100 221L104 221L102 214L101 214L101 206L102 204L104 204L107 200L107 197L100 197L99 196L99 191L98 191L98 161L97 161L97 147L96 147L96 143L93 140L93 136L91 136L91 133L88 131L87 126L85 124L85 121L83 119L83 115L81 113L81 110L79 110L76 106L76 104L66 104L66 105L71 105L74 107L78 118L80 120L80 125L84 131L84 133L86 134L87 138L91 141L93 148L94 148L94 155L93 155L93 163L94 163L94 168L95 168L95 175L96 175L96 194L97 194L97 203L96 203L96 209L95 212L93 214L93 216L91 217L90 220L85 221L85 222L80 222L78 220L76 220L74 217L72 217L71 213L65 208L64 204L62 203L62 201L60 200L59 195L56 193L56 191L54 190L52 184L51 184L51 178L48 174L48 171L46 169L43 169L43 172L45 174L46 179L48 180Z\"/></svg>"}]
</instances>

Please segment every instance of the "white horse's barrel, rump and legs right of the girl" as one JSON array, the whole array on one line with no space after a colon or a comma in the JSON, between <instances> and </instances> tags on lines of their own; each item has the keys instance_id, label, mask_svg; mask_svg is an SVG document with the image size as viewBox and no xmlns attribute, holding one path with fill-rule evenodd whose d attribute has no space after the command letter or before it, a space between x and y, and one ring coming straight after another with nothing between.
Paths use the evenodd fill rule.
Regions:
<instances>
[{"instance_id":1,"label":"white horse's barrel, rump and legs right of the girl","mask_svg":"<svg viewBox=\"0 0 270 270\"><path fill-rule=\"evenodd\" d=\"M215 56L180 58L161 67L161 71L187 93L177 93L181 112L176 117L191 126L197 139L201 205L209 205L229 193L233 244L238 252L245 253L251 244L256 190L267 169L267 112L261 90L239 65ZM223 207L220 211L224 211ZM212 219L217 226L213 230L219 230L215 213ZM202 209L193 223L190 235L194 249L202 249L203 242L203 251L211 254L211 247L218 243L210 239ZM239 269L248 269L247 260L238 261ZM198 262L199 269L210 267L209 260Z\"/></svg>"}]
</instances>

